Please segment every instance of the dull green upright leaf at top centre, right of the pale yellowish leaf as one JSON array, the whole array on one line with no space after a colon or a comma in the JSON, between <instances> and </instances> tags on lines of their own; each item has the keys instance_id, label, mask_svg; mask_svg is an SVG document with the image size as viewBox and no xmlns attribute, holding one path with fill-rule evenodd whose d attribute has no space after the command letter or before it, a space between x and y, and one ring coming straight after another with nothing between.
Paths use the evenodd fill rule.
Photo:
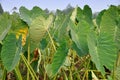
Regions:
<instances>
[{"instance_id":1,"label":"dull green upright leaf at top centre, right of the pale yellowish leaf","mask_svg":"<svg viewBox=\"0 0 120 80\"><path fill-rule=\"evenodd\" d=\"M61 11L57 10L57 15L54 21L53 36L56 41L62 41L63 38L68 36L68 23L70 20L71 12L68 15L65 15Z\"/></svg>"}]
</instances>

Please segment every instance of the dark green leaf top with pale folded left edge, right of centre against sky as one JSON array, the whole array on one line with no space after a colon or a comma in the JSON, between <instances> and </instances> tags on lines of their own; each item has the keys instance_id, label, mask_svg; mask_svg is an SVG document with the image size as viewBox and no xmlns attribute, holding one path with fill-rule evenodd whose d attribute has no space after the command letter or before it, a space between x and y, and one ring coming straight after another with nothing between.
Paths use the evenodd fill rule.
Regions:
<instances>
[{"instance_id":1,"label":"dark green leaf top with pale folded left edge, right of centre against sky","mask_svg":"<svg viewBox=\"0 0 120 80\"><path fill-rule=\"evenodd\" d=\"M73 10L70 19L74 23L76 23L76 22L78 23L78 22L81 22L82 20L85 20L87 23L89 23L90 26L93 26L92 10L88 5L85 5L83 10L80 7L77 6Z\"/></svg>"}]
</instances>

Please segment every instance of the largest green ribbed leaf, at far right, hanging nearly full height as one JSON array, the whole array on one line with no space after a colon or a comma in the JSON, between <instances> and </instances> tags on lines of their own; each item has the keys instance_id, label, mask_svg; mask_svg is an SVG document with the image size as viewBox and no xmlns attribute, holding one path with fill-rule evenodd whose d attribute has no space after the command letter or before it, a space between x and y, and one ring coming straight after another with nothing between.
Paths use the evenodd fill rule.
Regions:
<instances>
[{"instance_id":1,"label":"largest green ribbed leaf, at far right, hanging nearly full height","mask_svg":"<svg viewBox=\"0 0 120 80\"><path fill-rule=\"evenodd\" d=\"M113 70L117 58L116 17L116 8L112 6L102 16L100 34L97 37L94 33L88 35L89 53L92 61L102 74L105 74L104 67Z\"/></svg>"}]
</instances>

